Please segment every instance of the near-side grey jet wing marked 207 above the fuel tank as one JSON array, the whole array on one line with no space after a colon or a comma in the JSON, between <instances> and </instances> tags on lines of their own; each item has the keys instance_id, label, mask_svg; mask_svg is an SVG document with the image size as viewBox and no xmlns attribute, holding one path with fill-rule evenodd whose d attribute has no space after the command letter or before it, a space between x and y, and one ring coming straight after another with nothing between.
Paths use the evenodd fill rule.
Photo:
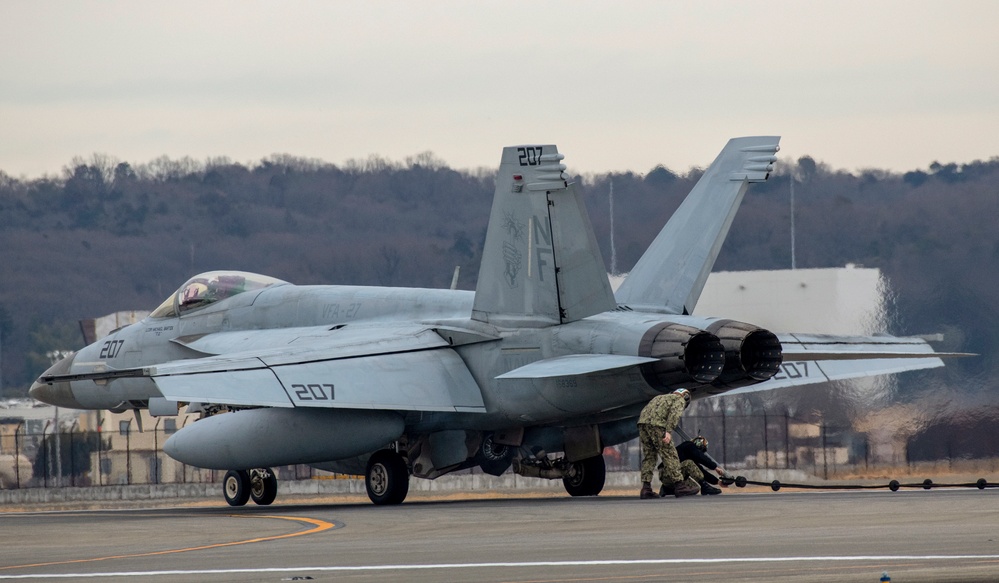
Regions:
<instances>
[{"instance_id":1,"label":"near-side grey jet wing marked 207 above the fuel tank","mask_svg":"<svg viewBox=\"0 0 999 583\"><path fill-rule=\"evenodd\" d=\"M270 336L270 341L268 341ZM169 401L263 407L485 410L458 355L422 325L225 332L185 339L217 356L143 369ZM237 347L251 347L237 350ZM385 358L391 355L391 358Z\"/></svg>"}]
</instances>

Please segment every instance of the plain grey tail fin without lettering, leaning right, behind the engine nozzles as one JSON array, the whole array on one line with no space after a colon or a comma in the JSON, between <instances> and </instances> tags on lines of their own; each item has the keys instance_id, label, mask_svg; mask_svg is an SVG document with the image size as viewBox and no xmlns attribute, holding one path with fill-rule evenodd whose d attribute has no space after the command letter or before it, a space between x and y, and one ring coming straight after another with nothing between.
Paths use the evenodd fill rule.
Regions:
<instances>
[{"instance_id":1,"label":"plain grey tail fin without lettering, leaning right, behind the engine nozzles","mask_svg":"<svg viewBox=\"0 0 999 583\"><path fill-rule=\"evenodd\" d=\"M750 183L764 182L779 136L733 138L618 288L632 308L690 314Z\"/></svg>"}]
</instances>

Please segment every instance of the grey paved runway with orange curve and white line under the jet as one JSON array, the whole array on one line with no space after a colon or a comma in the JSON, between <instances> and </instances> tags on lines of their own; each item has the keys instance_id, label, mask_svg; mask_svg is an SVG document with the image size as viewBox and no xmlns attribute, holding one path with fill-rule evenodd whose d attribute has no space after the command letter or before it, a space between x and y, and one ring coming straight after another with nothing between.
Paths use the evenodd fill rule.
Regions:
<instances>
[{"instance_id":1,"label":"grey paved runway with orange curve and white line under the jet","mask_svg":"<svg viewBox=\"0 0 999 583\"><path fill-rule=\"evenodd\" d=\"M0 581L999 580L995 489L539 496L0 513Z\"/></svg>"}]
</instances>

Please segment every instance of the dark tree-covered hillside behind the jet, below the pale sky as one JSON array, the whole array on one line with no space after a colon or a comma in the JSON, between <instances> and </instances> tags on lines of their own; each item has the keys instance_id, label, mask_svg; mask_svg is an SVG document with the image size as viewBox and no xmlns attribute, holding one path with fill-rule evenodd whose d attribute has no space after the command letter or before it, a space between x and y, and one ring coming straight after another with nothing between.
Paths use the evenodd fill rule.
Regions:
<instances>
[{"instance_id":1,"label":"dark tree-covered hillside behind the jet, below the pale sky","mask_svg":"<svg viewBox=\"0 0 999 583\"><path fill-rule=\"evenodd\" d=\"M570 173L585 169L570 168ZM701 171L581 174L610 261L626 272ZM895 334L943 332L938 349L977 352L941 373L954 390L996 389L999 159L904 174L782 161L750 189L716 270L791 266L791 181L799 268L880 268ZM82 344L81 318L151 309L191 275L264 273L298 284L473 289L494 171L430 153L335 166L272 156L256 164L75 159L61 176L0 172L3 396L26 394L45 352ZM608 265L609 267L609 265Z\"/></svg>"}]
</instances>

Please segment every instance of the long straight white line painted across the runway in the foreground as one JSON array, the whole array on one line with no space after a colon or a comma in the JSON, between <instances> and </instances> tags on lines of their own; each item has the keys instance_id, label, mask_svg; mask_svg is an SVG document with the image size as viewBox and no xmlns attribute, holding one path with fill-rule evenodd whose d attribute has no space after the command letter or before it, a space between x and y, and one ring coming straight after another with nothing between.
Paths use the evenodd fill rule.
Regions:
<instances>
[{"instance_id":1,"label":"long straight white line painted across the runway in the foreground","mask_svg":"<svg viewBox=\"0 0 999 583\"><path fill-rule=\"evenodd\" d=\"M435 563L414 565L353 565L327 567L268 567L260 569L194 569L171 571L113 571L101 573L32 573L24 575L0 575L6 579L69 579L85 577L175 577L192 575L232 575L239 573L307 573L307 572L352 572L352 571L403 571L410 569L494 569L497 567L601 567L610 565L710 565L718 563L809 563L844 562L860 563L868 561L968 561L999 560L999 555L856 555L833 557L722 557L715 559L635 559L608 561L525 561L503 563Z\"/></svg>"}]
</instances>

